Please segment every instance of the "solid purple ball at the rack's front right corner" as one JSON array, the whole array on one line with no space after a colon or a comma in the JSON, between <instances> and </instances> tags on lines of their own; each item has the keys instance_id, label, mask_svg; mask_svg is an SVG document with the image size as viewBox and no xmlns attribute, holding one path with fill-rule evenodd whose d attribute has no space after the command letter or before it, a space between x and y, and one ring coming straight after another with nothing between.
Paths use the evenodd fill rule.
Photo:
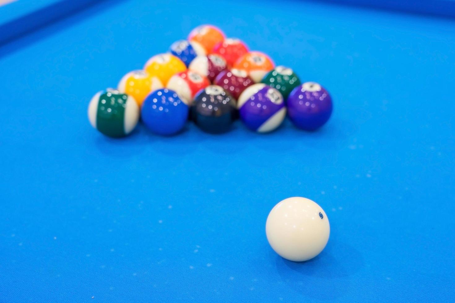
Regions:
<instances>
[{"instance_id":1,"label":"solid purple ball at the rack's front right corner","mask_svg":"<svg viewBox=\"0 0 455 303\"><path fill-rule=\"evenodd\" d=\"M332 114L329 92L315 82L305 82L293 89L287 103L292 123L305 130L318 129Z\"/></svg>"}]
</instances>

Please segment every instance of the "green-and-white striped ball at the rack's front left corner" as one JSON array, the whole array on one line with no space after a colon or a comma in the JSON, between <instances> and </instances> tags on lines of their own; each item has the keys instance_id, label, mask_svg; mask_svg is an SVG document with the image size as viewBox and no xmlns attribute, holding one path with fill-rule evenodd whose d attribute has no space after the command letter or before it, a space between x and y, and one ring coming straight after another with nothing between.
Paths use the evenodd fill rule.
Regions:
<instances>
[{"instance_id":1,"label":"green-and-white striped ball at the rack's front left corner","mask_svg":"<svg viewBox=\"0 0 455 303\"><path fill-rule=\"evenodd\" d=\"M124 137L136 127L139 106L136 100L115 89L106 89L93 96L88 106L90 124L109 137Z\"/></svg>"}]
</instances>

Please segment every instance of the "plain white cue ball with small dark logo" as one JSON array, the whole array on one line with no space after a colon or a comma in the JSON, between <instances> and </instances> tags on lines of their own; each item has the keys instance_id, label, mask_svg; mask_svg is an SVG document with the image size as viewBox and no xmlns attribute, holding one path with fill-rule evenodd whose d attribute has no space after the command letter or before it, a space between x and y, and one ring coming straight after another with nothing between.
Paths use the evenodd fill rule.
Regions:
<instances>
[{"instance_id":1,"label":"plain white cue ball with small dark logo","mask_svg":"<svg viewBox=\"0 0 455 303\"><path fill-rule=\"evenodd\" d=\"M291 261L316 257L329 241L330 225L324 210L310 199L292 197L273 207L265 224L268 243Z\"/></svg>"}]
</instances>

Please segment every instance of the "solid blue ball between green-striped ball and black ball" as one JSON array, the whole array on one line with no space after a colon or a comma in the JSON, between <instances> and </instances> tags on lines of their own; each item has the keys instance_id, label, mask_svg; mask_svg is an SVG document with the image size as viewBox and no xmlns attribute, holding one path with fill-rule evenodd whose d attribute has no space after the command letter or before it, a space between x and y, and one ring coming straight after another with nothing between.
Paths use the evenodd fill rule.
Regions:
<instances>
[{"instance_id":1,"label":"solid blue ball between green-striped ball and black ball","mask_svg":"<svg viewBox=\"0 0 455 303\"><path fill-rule=\"evenodd\" d=\"M172 135L183 129L188 118L188 105L170 89L158 89L142 104L142 121L155 134Z\"/></svg>"}]
</instances>

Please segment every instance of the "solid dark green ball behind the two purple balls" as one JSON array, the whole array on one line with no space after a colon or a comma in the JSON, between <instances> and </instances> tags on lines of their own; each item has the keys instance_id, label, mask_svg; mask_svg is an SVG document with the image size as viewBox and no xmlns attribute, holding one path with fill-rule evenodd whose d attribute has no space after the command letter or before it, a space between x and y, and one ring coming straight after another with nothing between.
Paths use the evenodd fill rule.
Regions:
<instances>
[{"instance_id":1,"label":"solid dark green ball behind the two purple balls","mask_svg":"<svg viewBox=\"0 0 455 303\"><path fill-rule=\"evenodd\" d=\"M268 72L261 81L274 89L277 89L284 97L288 99L291 91L300 85L298 76L288 67L277 66L274 70Z\"/></svg>"}]
</instances>

